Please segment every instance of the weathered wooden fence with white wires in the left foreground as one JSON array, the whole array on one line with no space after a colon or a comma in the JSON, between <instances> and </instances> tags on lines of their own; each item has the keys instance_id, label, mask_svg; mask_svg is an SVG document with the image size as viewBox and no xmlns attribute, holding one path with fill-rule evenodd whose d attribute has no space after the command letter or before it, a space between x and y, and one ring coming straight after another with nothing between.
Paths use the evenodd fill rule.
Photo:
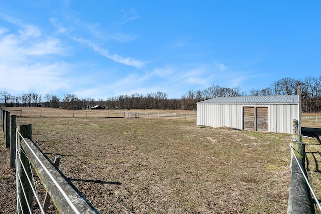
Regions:
<instances>
[{"instance_id":1,"label":"weathered wooden fence with white wires in the left foreground","mask_svg":"<svg viewBox=\"0 0 321 214\"><path fill-rule=\"evenodd\" d=\"M1 117L3 114L1 111ZM10 136L6 135L6 138L13 139L12 134L15 135L15 143L10 143L10 154L14 149L15 164L10 163L10 167L16 168L17 212L33 213L34 199L39 211L47 212L43 208L46 202L42 205L38 197L34 169L59 213L99 213L34 144L31 140L31 124L18 126L16 115L10 115L10 121L14 120L9 127L7 120L2 119L1 123L3 127L10 129Z\"/></svg>"}]
</instances>

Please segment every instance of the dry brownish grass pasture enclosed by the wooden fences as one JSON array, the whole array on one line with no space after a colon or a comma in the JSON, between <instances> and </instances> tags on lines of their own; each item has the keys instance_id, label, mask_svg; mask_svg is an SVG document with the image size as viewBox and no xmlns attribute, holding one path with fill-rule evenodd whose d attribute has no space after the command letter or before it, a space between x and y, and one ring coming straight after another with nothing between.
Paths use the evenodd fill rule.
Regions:
<instances>
[{"instance_id":1,"label":"dry brownish grass pasture enclosed by the wooden fences","mask_svg":"<svg viewBox=\"0 0 321 214\"><path fill-rule=\"evenodd\" d=\"M288 134L146 118L21 117L18 124L32 124L33 141L49 159L61 156L59 169L100 213L286 213ZM320 143L304 140L315 152L308 174L320 198ZM14 174L0 143L0 205L10 210L15 192L5 192Z\"/></svg>"}]
</instances>

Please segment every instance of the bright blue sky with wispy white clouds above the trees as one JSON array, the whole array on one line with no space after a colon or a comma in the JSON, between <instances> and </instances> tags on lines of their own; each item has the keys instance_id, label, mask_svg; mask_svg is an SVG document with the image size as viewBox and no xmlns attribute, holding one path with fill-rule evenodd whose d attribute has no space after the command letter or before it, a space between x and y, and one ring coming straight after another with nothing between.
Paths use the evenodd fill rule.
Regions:
<instances>
[{"instance_id":1,"label":"bright blue sky with wispy white clouds above the trees","mask_svg":"<svg viewBox=\"0 0 321 214\"><path fill-rule=\"evenodd\" d=\"M321 75L321 1L2 1L0 91L181 98Z\"/></svg>"}]
</instances>

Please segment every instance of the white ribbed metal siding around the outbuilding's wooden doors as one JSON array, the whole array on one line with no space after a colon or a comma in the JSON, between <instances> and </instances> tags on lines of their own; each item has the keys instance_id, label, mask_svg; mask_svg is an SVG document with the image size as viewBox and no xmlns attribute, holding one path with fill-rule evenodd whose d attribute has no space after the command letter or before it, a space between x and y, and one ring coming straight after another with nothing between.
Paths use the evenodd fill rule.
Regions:
<instances>
[{"instance_id":1,"label":"white ribbed metal siding around the outbuilding's wooden doors","mask_svg":"<svg viewBox=\"0 0 321 214\"><path fill-rule=\"evenodd\" d=\"M196 125L243 128L243 106L268 107L269 132L292 134L292 121L299 119L298 104L197 104Z\"/></svg>"}]
</instances>

